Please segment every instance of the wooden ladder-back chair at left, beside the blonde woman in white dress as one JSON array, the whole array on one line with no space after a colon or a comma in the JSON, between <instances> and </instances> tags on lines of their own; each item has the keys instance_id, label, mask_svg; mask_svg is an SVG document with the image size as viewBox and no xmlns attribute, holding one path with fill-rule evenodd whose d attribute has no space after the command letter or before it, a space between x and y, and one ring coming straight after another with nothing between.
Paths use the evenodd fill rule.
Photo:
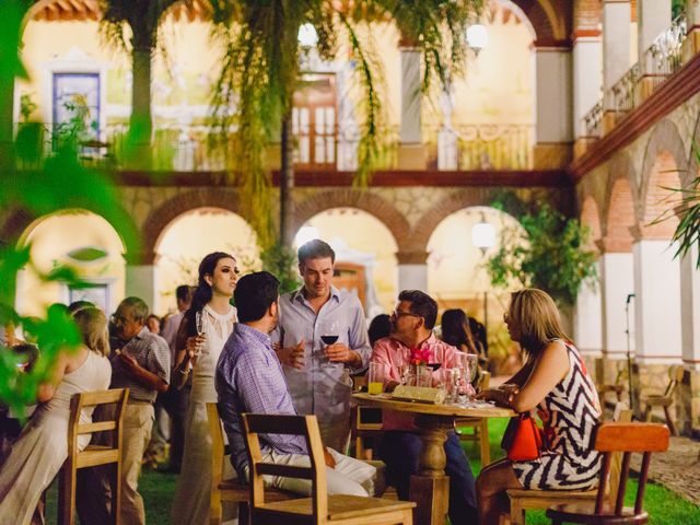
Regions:
<instances>
[{"instance_id":1,"label":"wooden ladder-back chair at left, beside the blonde woman in white dress","mask_svg":"<svg viewBox=\"0 0 700 525\"><path fill-rule=\"evenodd\" d=\"M114 469L109 476L112 487L110 523L119 523L119 505L121 503L121 431L124 409L129 397L128 388L110 390L83 392L75 394L70 400L70 419L68 423L68 457L61 467L58 485L58 523L72 525L75 518L75 486L79 468L112 465ZM115 405L110 419L82 424L80 413L83 408L100 405ZM83 451L78 451L78 436L96 432L109 432L109 440L90 444Z\"/></svg>"}]
</instances>

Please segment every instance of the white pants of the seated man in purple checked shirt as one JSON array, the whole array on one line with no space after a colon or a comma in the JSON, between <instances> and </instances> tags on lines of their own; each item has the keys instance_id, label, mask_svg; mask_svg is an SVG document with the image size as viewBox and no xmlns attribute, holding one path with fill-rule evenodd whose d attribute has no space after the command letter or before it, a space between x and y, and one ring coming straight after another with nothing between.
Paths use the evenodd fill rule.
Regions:
<instances>
[{"instance_id":1,"label":"white pants of the seated man in purple checked shirt","mask_svg":"<svg viewBox=\"0 0 700 525\"><path fill-rule=\"evenodd\" d=\"M374 495L374 480L376 468L364 462L328 448L336 462L335 468L326 467L326 491L332 494L349 494L369 497ZM262 460L277 465L292 465L308 467L310 456L303 454L278 454L264 452ZM246 479L249 480L248 467L245 467ZM299 478L284 478L282 476L264 476L266 487L287 490L303 495L311 495L311 480Z\"/></svg>"}]
</instances>

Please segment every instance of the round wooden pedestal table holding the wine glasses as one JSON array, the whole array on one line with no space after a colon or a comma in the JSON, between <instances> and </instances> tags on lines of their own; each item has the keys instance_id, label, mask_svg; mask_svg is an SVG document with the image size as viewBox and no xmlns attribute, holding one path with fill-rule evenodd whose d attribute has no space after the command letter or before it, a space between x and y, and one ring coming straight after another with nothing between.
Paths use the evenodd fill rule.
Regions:
<instances>
[{"instance_id":1,"label":"round wooden pedestal table holding the wine glasses","mask_svg":"<svg viewBox=\"0 0 700 525\"><path fill-rule=\"evenodd\" d=\"M411 477L409 500L417 503L416 525L444 525L450 503L450 478L445 476L444 444L447 432L454 430L455 418L512 418L510 408L478 402L476 406L435 405L393 399L390 394L353 394L360 406L416 413L416 425L423 443L418 474Z\"/></svg>"}]
</instances>

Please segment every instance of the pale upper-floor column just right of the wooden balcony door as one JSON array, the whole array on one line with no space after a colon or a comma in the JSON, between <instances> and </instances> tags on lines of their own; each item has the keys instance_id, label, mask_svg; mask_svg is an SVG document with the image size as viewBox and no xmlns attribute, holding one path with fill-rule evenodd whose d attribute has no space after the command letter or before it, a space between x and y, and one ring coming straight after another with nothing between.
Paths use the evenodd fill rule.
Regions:
<instances>
[{"instance_id":1,"label":"pale upper-floor column just right of the wooden balcony door","mask_svg":"<svg viewBox=\"0 0 700 525\"><path fill-rule=\"evenodd\" d=\"M399 43L401 52L401 126L399 170L425 170L427 150L421 135L421 51L410 43Z\"/></svg>"}]
</instances>

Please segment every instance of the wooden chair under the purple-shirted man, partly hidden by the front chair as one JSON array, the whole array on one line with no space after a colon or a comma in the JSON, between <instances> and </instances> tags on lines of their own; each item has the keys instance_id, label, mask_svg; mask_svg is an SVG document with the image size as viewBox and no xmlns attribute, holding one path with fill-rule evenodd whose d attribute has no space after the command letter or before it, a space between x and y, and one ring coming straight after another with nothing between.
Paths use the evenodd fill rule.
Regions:
<instances>
[{"instance_id":1,"label":"wooden chair under the purple-shirted man, partly hidden by the front chair","mask_svg":"<svg viewBox=\"0 0 700 525\"><path fill-rule=\"evenodd\" d=\"M207 420L209 422L209 434L211 435L211 495L209 505L209 524L220 525L222 523L222 501L238 503L238 523L248 525L250 523L249 502L250 486L237 478L223 479L223 466L228 460L225 456L230 454L229 445L223 441L223 430L219 419L219 408L215 402L207 404ZM281 490L270 489L268 492L270 501L283 501L292 498L291 494Z\"/></svg>"}]
</instances>

